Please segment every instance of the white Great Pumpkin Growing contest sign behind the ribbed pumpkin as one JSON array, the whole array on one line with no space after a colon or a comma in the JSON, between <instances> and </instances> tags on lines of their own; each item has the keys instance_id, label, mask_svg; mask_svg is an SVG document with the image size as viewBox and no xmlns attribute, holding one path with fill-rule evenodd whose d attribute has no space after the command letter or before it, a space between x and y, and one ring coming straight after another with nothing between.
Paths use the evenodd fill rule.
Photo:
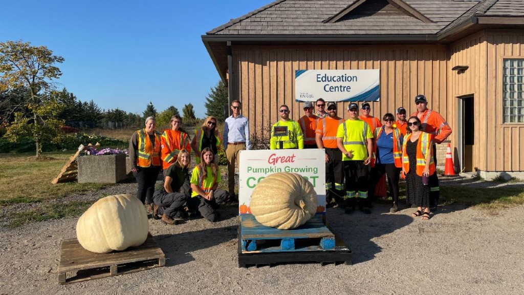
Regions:
<instances>
[{"instance_id":1,"label":"white Great Pumpkin Growing contest sign behind the ribbed pumpkin","mask_svg":"<svg viewBox=\"0 0 524 295\"><path fill-rule=\"evenodd\" d=\"M319 210L325 212L325 152L307 150L254 150L240 151L238 167L239 213L250 213L251 194L258 182L277 172L294 172L309 180L318 196Z\"/></svg>"}]
</instances>

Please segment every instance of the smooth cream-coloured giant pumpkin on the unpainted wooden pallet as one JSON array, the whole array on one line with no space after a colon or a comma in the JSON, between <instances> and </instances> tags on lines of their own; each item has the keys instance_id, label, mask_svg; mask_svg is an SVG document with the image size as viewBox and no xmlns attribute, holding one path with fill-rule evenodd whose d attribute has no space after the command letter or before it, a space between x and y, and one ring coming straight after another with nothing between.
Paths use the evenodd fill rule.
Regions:
<instances>
[{"instance_id":1,"label":"smooth cream-coloured giant pumpkin on the unpainted wooden pallet","mask_svg":"<svg viewBox=\"0 0 524 295\"><path fill-rule=\"evenodd\" d=\"M77 238L86 250L108 253L144 244L149 232L147 213L135 196L101 198L77 223Z\"/></svg>"}]
</instances>

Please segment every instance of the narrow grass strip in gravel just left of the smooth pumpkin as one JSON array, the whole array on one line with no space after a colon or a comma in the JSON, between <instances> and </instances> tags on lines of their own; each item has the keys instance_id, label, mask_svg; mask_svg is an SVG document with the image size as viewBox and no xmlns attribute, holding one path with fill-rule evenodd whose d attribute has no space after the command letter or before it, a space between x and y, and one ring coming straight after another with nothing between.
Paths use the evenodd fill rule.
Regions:
<instances>
[{"instance_id":1,"label":"narrow grass strip in gravel just left of the smooth pumpkin","mask_svg":"<svg viewBox=\"0 0 524 295\"><path fill-rule=\"evenodd\" d=\"M42 206L26 212L15 212L9 216L9 224L7 227L14 228L26 223L79 216L92 204L92 202L74 201L67 204Z\"/></svg>"}]
</instances>

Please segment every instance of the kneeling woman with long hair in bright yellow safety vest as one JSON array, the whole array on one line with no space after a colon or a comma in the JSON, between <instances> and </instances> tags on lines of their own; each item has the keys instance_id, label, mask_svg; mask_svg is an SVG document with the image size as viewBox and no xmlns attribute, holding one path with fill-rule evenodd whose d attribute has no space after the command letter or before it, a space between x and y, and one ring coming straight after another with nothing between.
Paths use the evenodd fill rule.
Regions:
<instances>
[{"instance_id":1,"label":"kneeling woman with long hair in bright yellow safety vest","mask_svg":"<svg viewBox=\"0 0 524 295\"><path fill-rule=\"evenodd\" d=\"M222 181L219 166L214 162L214 154L210 148L202 150L202 162L196 165L191 175L193 193L188 201L191 211L198 209L202 217L210 222L219 219L215 210L218 204L228 201L229 194L224 189L217 189Z\"/></svg>"}]
</instances>

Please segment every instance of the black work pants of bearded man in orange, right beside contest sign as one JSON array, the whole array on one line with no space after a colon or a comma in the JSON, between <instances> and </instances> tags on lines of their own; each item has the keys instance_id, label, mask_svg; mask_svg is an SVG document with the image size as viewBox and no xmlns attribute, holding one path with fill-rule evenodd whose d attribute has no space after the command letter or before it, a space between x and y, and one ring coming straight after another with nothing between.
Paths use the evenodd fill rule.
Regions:
<instances>
[{"instance_id":1,"label":"black work pants of bearded man in orange, right beside contest sign","mask_svg":"<svg viewBox=\"0 0 524 295\"><path fill-rule=\"evenodd\" d=\"M325 148L326 155L329 157L326 163L326 204L335 199L336 204L344 203L346 195L344 189L344 162L342 152L339 149Z\"/></svg>"}]
</instances>

